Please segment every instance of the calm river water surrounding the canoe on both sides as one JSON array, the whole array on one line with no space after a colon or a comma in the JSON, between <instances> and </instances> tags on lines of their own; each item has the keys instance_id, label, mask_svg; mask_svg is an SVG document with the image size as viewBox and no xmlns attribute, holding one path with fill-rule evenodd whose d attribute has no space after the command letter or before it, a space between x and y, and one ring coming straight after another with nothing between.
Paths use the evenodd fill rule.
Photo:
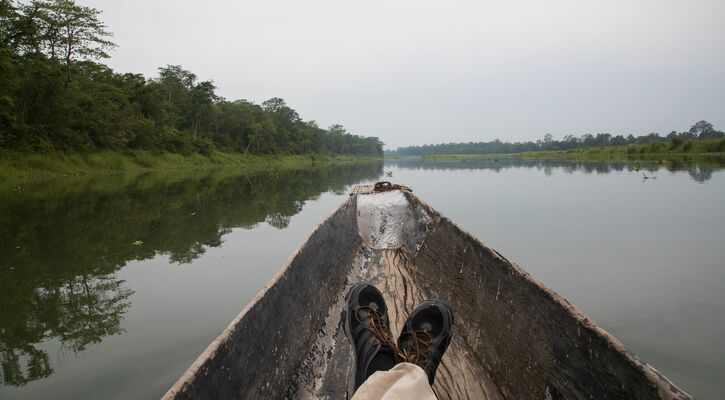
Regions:
<instances>
[{"instance_id":1,"label":"calm river water surrounding the canoe on both sides","mask_svg":"<svg viewBox=\"0 0 725 400\"><path fill-rule=\"evenodd\" d=\"M718 165L389 160L4 184L0 398L158 398L353 185L385 179L721 399Z\"/></svg>"}]
</instances>

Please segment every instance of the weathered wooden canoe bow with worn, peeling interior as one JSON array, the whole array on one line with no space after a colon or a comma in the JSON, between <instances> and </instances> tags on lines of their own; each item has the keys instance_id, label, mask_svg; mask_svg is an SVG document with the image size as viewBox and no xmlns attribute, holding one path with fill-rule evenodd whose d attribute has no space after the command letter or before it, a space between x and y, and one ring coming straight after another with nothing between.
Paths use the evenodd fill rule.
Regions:
<instances>
[{"instance_id":1,"label":"weathered wooden canoe bow with worn, peeling interior","mask_svg":"<svg viewBox=\"0 0 725 400\"><path fill-rule=\"evenodd\" d=\"M422 300L456 326L440 399L690 399L553 290L409 189L356 187L164 399L344 399L343 298L368 281L391 328Z\"/></svg>"}]
</instances>

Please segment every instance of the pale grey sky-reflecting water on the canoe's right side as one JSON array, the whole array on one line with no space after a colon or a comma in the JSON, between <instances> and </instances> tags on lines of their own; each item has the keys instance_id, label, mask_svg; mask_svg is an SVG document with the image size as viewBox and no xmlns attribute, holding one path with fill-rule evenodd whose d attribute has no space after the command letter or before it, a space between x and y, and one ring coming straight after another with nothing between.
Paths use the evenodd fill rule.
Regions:
<instances>
[{"instance_id":1,"label":"pale grey sky-reflecting water on the canoe's right side","mask_svg":"<svg viewBox=\"0 0 725 400\"><path fill-rule=\"evenodd\" d=\"M385 169L696 398L721 399L725 174L634 167L482 159ZM657 179L643 182L643 170Z\"/></svg>"}]
</instances>

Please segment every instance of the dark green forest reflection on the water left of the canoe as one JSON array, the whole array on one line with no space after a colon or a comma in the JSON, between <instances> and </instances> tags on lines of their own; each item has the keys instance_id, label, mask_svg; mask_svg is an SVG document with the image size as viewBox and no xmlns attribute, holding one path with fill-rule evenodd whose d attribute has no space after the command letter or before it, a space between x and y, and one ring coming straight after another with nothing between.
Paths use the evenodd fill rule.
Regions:
<instances>
[{"instance_id":1,"label":"dark green forest reflection on the water left of the canoe","mask_svg":"<svg viewBox=\"0 0 725 400\"><path fill-rule=\"evenodd\" d=\"M232 228L283 229L307 200L375 180L380 161L275 170L63 179L0 189L4 385L53 373L44 343L80 352L121 322L133 290L116 272L159 254L189 263Z\"/></svg>"}]
</instances>

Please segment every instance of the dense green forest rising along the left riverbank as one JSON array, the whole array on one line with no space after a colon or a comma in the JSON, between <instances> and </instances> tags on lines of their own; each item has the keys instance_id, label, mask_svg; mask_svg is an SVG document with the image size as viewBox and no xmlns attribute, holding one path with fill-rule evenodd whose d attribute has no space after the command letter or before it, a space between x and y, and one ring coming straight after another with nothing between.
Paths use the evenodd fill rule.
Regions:
<instances>
[{"instance_id":1,"label":"dense green forest rising along the left riverbank","mask_svg":"<svg viewBox=\"0 0 725 400\"><path fill-rule=\"evenodd\" d=\"M116 73L100 11L0 0L0 149L382 155L382 142L304 121L281 98L227 100L178 65Z\"/></svg>"}]
</instances>

